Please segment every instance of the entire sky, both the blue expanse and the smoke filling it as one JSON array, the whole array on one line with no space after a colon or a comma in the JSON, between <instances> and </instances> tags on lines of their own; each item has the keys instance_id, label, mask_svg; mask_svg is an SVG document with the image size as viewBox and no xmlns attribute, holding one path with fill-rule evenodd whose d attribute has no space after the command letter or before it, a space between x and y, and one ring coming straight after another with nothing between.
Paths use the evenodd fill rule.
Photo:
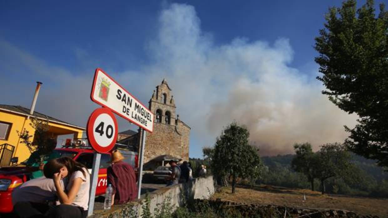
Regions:
<instances>
[{"instance_id":1,"label":"entire sky, both the blue expanse and the smoke filling it","mask_svg":"<svg viewBox=\"0 0 388 218\"><path fill-rule=\"evenodd\" d=\"M376 3L380 3L377 1ZM201 157L233 120L262 154L341 141L346 115L320 94L314 37L340 1L1 1L3 104L86 125L94 69L147 103L166 78ZM359 3L360 4L360 3ZM135 128L120 120L120 129ZM317 127L318 126L318 127Z\"/></svg>"}]
</instances>

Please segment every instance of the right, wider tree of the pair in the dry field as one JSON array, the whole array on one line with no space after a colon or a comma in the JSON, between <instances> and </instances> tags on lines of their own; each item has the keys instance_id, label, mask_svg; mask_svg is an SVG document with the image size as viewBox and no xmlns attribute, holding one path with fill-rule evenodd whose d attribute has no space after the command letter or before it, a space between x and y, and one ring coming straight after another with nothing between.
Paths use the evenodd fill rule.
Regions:
<instances>
[{"instance_id":1,"label":"right, wider tree of the pair in the dry field","mask_svg":"<svg viewBox=\"0 0 388 218\"><path fill-rule=\"evenodd\" d=\"M316 153L315 170L321 183L322 194L326 192L325 182L332 177L346 178L356 170L350 162L351 156L339 143L324 144Z\"/></svg>"}]
</instances>

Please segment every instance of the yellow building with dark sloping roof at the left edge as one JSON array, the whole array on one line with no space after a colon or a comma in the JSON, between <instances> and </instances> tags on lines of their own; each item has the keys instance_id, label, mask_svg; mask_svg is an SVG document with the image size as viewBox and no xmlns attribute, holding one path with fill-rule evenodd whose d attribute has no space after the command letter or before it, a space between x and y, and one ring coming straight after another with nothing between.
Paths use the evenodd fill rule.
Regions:
<instances>
[{"instance_id":1,"label":"yellow building with dark sloping roof at the left edge","mask_svg":"<svg viewBox=\"0 0 388 218\"><path fill-rule=\"evenodd\" d=\"M22 106L0 105L0 167L9 165L10 158L18 157L19 162L26 160L31 154L27 146L21 142L17 131L23 129L34 134L35 129L30 125L30 117L49 120L49 130L51 138L57 139L57 136L73 134L73 138L81 138L85 128L68 124L42 113L33 112ZM31 138L33 140L33 138Z\"/></svg>"}]
</instances>

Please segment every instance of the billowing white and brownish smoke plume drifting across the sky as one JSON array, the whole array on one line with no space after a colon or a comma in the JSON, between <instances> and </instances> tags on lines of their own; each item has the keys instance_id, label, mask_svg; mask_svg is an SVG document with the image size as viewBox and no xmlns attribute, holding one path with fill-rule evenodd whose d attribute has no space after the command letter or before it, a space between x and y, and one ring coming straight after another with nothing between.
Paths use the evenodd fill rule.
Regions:
<instances>
[{"instance_id":1,"label":"billowing white and brownish smoke plume drifting across the sky","mask_svg":"<svg viewBox=\"0 0 388 218\"><path fill-rule=\"evenodd\" d=\"M106 71L144 103L165 78L173 89L177 113L199 143L191 144L191 156L200 156L201 148L214 144L233 121L248 127L261 155L292 153L295 142L308 141L315 149L326 142L341 142L347 136L343 125L355 124L355 115L342 112L320 93L324 87L315 79L317 69L301 72L289 67L294 53L288 39L272 44L242 36L216 45L210 33L201 31L194 7L185 4L169 5L158 22L158 35L147 44L152 64L137 71ZM41 111L85 126L96 107L89 100L93 70L74 76L14 54L24 57L19 60L31 71L47 72L57 84L42 94ZM58 98L61 101L55 101Z\"/></svg>"}]
</instances>

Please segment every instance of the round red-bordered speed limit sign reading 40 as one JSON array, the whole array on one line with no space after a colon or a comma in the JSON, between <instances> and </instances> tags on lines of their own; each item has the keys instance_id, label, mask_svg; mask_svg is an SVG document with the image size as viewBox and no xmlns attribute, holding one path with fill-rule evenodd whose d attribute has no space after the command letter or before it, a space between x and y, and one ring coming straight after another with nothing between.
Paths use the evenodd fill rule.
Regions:
<instances>
[{"instance_id":1,"label":"round red-bordered speed limit sign reading 40","mask_svg":"<svg viewBox=\"0 0 388 218\"><path fill-rule=\"evenodd\" d=\"M117 140L116 118L108 108L98 108L90 115L87 125L89 143L99 153L110 151Z\"/></svg>"}]
</instances>

